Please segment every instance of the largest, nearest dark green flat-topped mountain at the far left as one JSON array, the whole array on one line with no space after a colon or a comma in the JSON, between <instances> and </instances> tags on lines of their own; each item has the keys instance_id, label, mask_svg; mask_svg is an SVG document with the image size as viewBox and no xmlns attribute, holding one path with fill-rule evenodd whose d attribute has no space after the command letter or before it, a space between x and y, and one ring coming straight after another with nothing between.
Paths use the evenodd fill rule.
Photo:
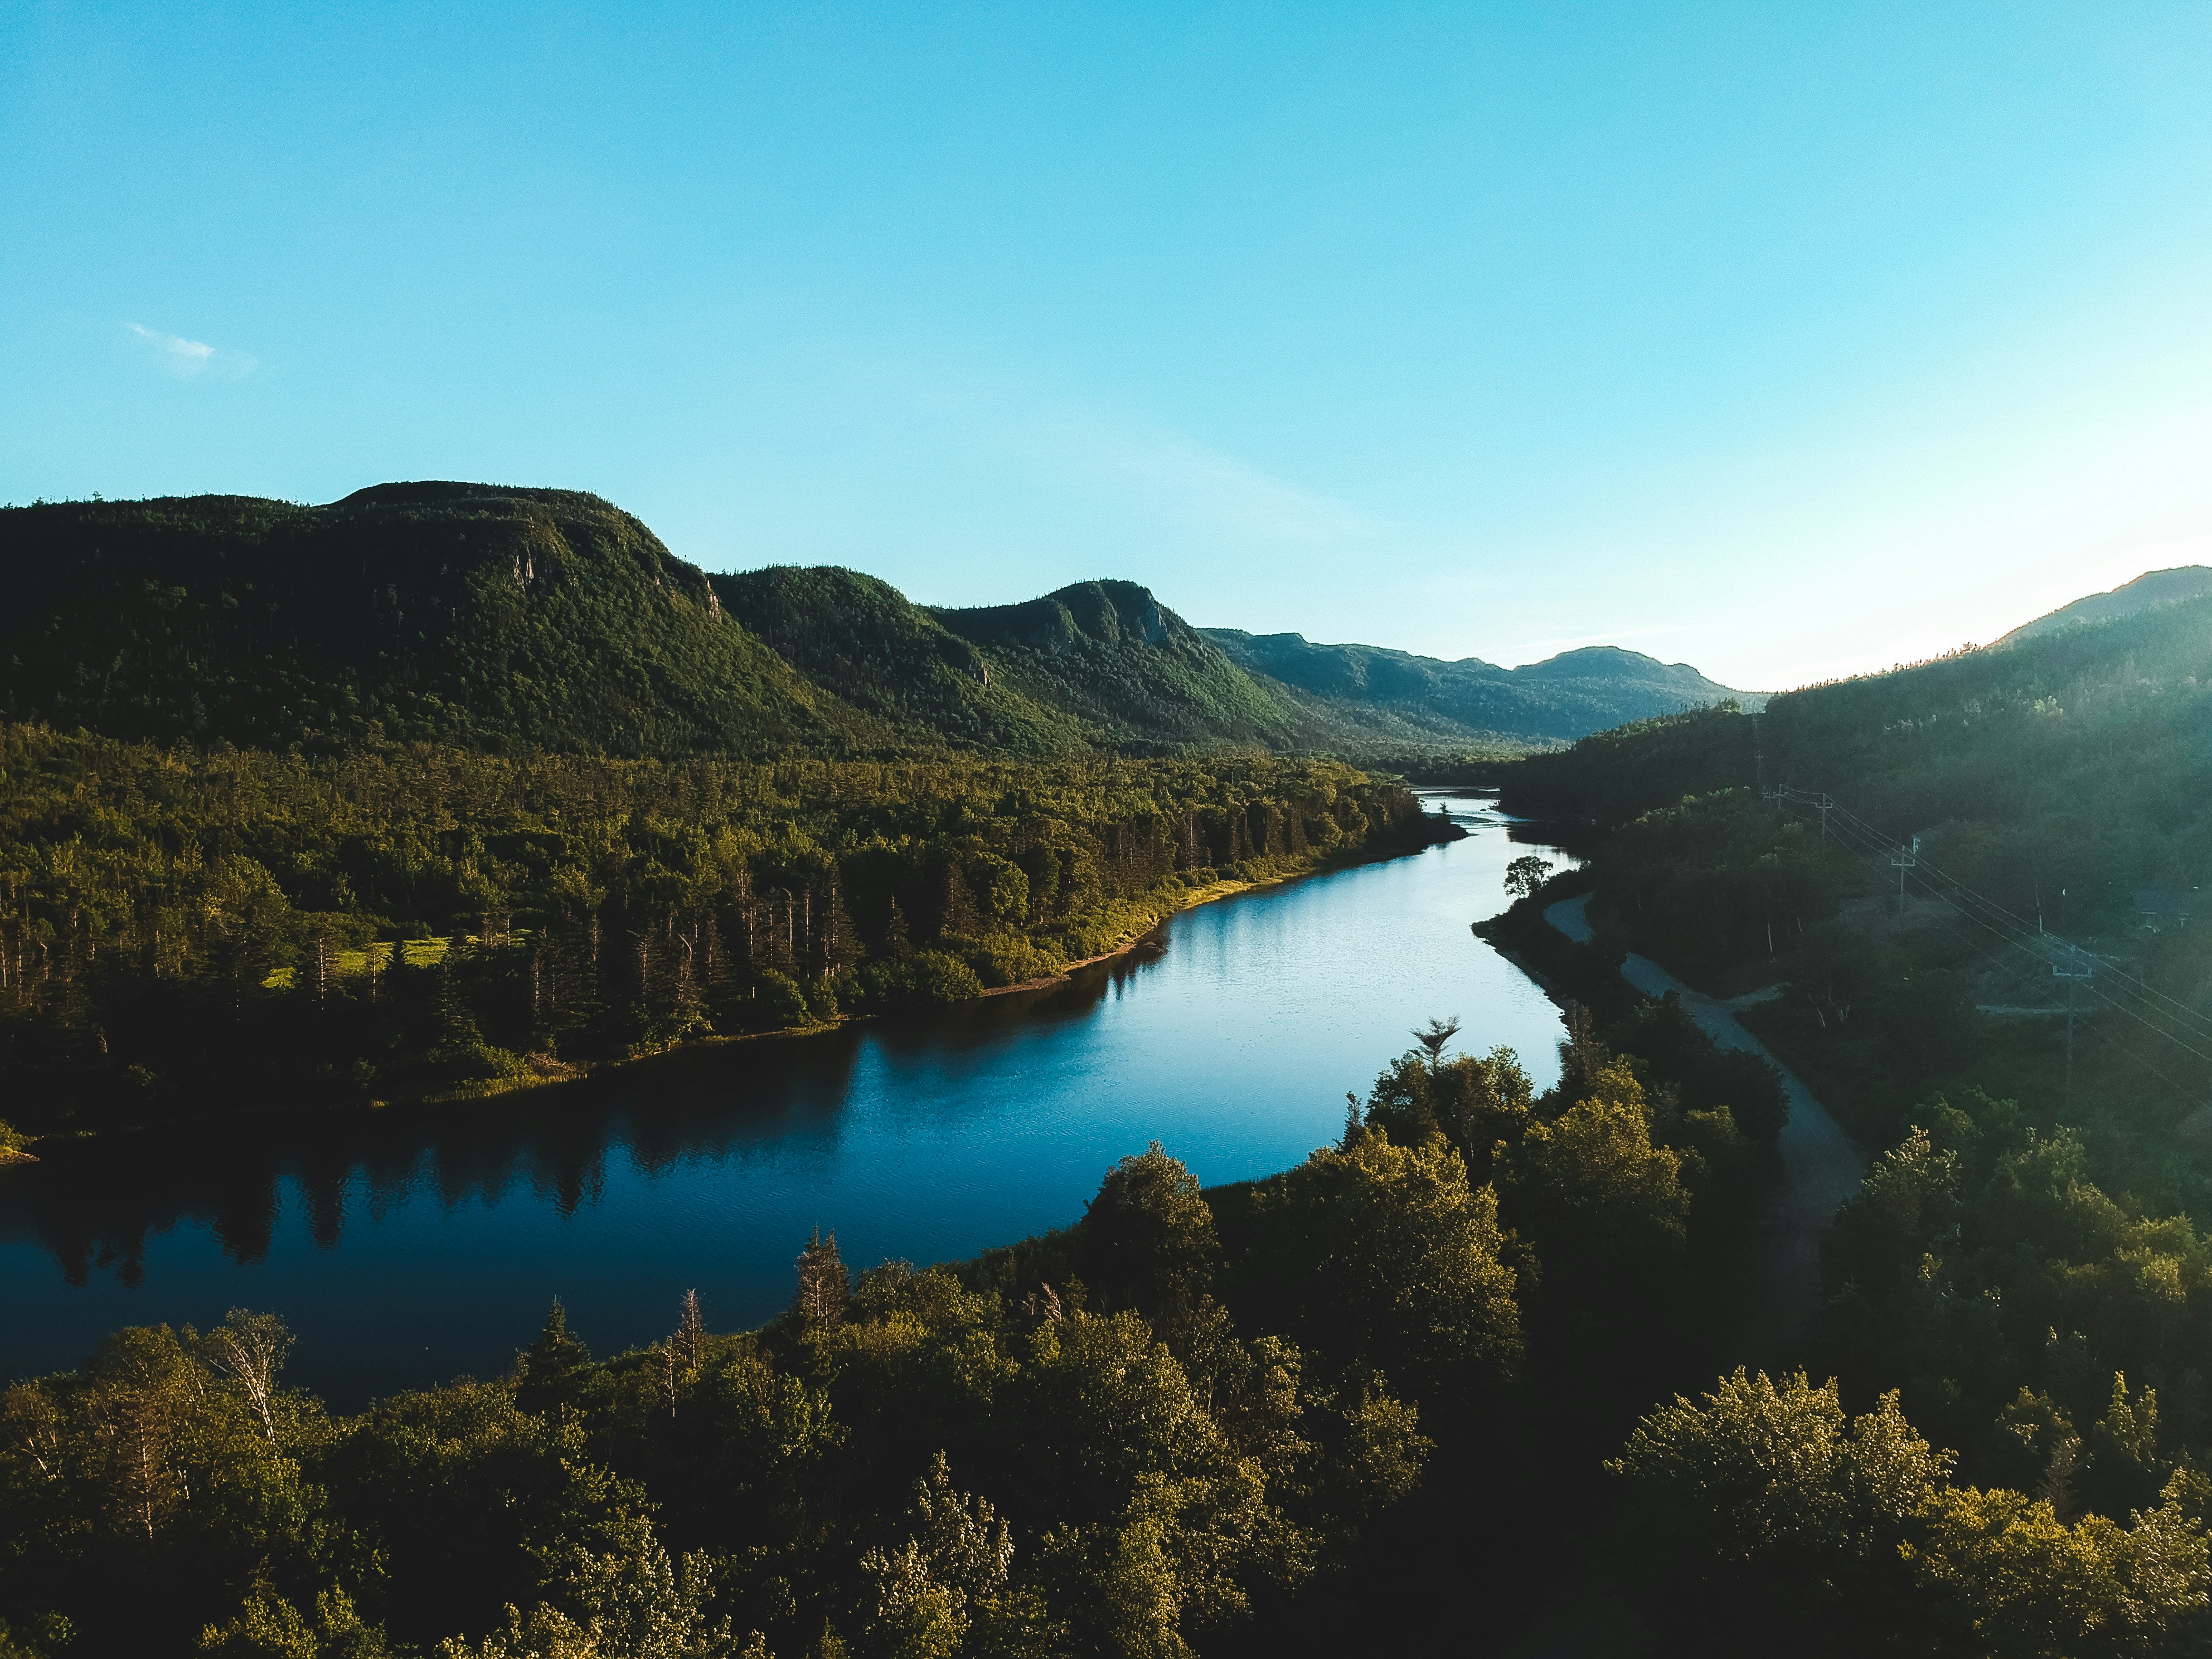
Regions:
<instances>
[{"instance_id":1,"label":"largest, nearest dark green flat-topped mountain at the far left","mask_svg":"<svg viewBox=\"0 0 2212 1659\"><path fill-rule=\"evenodd\" d=\"M595 495L378 484L0 511L13 719L338 750L750 754L889 732Z\"/></svg>"}]
</instances>

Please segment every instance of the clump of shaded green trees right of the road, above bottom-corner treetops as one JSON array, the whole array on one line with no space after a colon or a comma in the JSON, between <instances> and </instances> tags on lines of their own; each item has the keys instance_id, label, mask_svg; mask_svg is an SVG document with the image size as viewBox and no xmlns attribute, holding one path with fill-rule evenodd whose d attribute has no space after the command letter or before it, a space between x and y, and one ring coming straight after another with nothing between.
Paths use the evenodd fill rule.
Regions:
<instances>
[{"instance_id":1,"label":"clump of shaded green trees right of the road, above bottom-corner treetops","mask_svg":"<svg viewBox=\"0 0 2212 1659\"><path fill-rule=\"evenodd\" d=\"M2124 1515L2212 1455L2212 1245L2106 1197L2081 1139L2013 1102L1929 1102L1825 1270L1825 1352L1902 1385L1969 1473Z\"/></svg>"}]
</instances>

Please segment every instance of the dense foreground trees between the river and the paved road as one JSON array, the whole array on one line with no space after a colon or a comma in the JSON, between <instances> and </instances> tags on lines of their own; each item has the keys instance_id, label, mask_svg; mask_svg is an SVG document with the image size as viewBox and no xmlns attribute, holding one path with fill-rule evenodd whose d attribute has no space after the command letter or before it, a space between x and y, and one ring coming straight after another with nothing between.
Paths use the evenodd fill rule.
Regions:
<instances>
[{"instance_id":1,"label":"dense foreground trees between the river and the paved road","mask_svg":"<svg viewBox=\"0 0 2212 1659\"><path fill-rule=\"evenodd\" d=\"M1338 1652L1447 1637L1442 1573L1504 1624L1725 1332L1778 1095L1659 1004L1544 1095L1418 1035L1294 1170L1155 1146L927 1272L794 1241L759 1332L670 1287L595 1360L555 1305L358 1416L270 1316L117 1332L0 1398L0 1652Z\"/></svg>"}]
</instances>

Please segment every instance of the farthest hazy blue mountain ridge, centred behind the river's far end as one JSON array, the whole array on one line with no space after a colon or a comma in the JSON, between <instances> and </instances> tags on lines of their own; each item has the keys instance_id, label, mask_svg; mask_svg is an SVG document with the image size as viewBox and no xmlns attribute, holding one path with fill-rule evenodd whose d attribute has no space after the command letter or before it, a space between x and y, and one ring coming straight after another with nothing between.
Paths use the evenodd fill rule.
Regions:
<instances>
[{"instance_id":1,"label":"farthest hazy blue mountain ridge, centred behind the river's far end","mask_svg":"<svg viewBox=\"0 0 2212 1659\"><path fill-rule=\"evenodd\" d=\"M1719 686L1688 664L1655 661L1619 646L1500 668L1480 657L1440 661L1380 646L1316 646L1296 633L1203 633L1243 668L1287 686L1314 717L1407 737L1489 737L1524 748L1701 703L1759 703L1756 692Z\"/></svg>"}]
</instances>

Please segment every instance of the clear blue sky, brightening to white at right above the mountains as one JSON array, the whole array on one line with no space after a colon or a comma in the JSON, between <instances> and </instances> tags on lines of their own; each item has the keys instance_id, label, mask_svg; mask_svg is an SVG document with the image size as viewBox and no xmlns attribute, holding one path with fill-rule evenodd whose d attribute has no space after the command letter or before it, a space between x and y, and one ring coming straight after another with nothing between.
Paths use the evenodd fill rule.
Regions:
<instances>
[{"instance_id":1,"label":"clear blue sky, brightening to white at right above the mountains","mask_svg":"<svg viewBox=\"0 0 2212 1659\"><path fill-rule=\"evenodd\" d=\"M2212 9L0 9L0 500L1787 686L2212 562Z\"/></svg>"}]
</instances>

